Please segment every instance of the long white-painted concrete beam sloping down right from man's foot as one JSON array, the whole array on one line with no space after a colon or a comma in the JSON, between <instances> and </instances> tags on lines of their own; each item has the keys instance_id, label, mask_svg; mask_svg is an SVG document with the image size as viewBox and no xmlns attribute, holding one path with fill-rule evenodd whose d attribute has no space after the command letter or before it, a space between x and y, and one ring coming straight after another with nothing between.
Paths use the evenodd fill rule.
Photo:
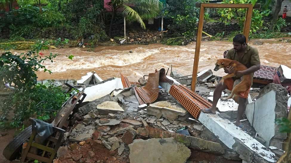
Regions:
<instances>
[{"instance_id":1,"label":"long white-painted concrete beam sloping down right from man's foot","mask_svg":"<svg viewBox=\"0 0 291 163\"><path fill-rule=\"evenodd\" d=\"M273 152L265 150L264 145L229 120L203 112L200 113L198 120L228 148L239 153L241 159L252 162L252 158L255 158L258 163L276 162Z\"/></svg>"}]
</instances>

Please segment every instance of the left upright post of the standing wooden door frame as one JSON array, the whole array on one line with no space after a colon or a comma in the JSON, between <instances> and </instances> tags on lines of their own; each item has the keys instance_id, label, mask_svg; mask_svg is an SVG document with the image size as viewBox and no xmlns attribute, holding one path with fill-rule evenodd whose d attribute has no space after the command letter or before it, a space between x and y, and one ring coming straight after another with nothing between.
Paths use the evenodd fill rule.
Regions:
<instances>
[{"instance_id":1,"label":"left upright post of the standing wooden door frame","mask_svg":"<svg viewBox=\"0 0 291 163\"><path fill-rule=\"evenodd\" d=\"M192 91L195 91L195 87L196 87L199 53L200 53L200 45L201 45L201 37L202 37L202 29L203 29L203 19L204 19L204 6L203 4L201 4L199 22L198 22L197 39L196 39L195 56L194 56L194 64L193 64L193 72L192 72L192 82L191 82Z\"/></svg>"}]
</instances>

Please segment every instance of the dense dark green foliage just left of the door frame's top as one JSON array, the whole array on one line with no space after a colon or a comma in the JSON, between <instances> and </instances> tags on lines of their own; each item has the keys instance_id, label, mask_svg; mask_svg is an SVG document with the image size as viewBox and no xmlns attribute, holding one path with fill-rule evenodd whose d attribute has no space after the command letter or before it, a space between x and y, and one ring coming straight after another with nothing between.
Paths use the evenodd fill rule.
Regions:
<instances>
[{"instance_id":1,"label":"dense dark green foliage just left of the door frame's top","mask_svg":"<svg viewBox=\"0 0 291 163\"><path fill-rule=\"evenodd\" d=\"M195 7L196 2L192 0L168 0L166 18L173 20L168 25L168 29L175 31L174 36L183 36L187 39L193 39L197 29L199 8Z\"/></svg>"}]
</instances>

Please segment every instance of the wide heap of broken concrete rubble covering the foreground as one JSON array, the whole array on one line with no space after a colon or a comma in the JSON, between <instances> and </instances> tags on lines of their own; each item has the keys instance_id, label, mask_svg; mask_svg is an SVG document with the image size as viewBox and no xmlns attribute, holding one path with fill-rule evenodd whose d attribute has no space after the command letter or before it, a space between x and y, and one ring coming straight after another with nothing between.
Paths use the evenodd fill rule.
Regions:
<instances>
[{"instance_id":1,"label":"wide heap of broken concrete rubble covering the foreground","mask_svg":"<svg viewBox=\"0 0 291 163\"><path fill-rule=\"evenodd\" d=\"M237 104L231 100L226 101L226 104L218 105L220 112L218 115L200 113L199 118L193 120L192 115L169 93L172 85L179 86L188 82L188 79L179 78L183 75L174 72L172 75L177 80L165 76L163 82L159 81L162 88L159 88L158 98L152 103L143 105L139 104L132 86L129 85L124 89L120 78L109 78L103 81L100 78L97 82L96 78L99 78L96 75L88 73L78 80L81 88L85 88L88 92L85 98L86 105L80 107L76 113L82 118L74 120L72 126L68 127L65 143L59 148L54 163L212 163L252 162L254 160L258 163L269 163L276 162L280 154L284 152L280 150L280 145L272 143L274 139L282 142L284 135L271 137L268 145L266 145L267 140L261 144L257 140L259 137L256 137L258 133L262 140L265 140L267 135L260 132L256 126L259 121L264 121L264 117L261 120L257 118L259 117L257 107L261 107L258 103L262 99L275 100L272 116L276 118L287 116L287 99L283 98L285 96L283 89L272 84L263 88L260 93L257 89L250 91L252 98L258 94L259 96L255 98L255 102L249 100L250 104L247 105L246 111L248 121L242 122L249 127L244 132L232 123L236 118ZM212 84L214 78L216 80L219 77L212 75L210 69L200 72L198 77L200 82L196 85L197 96L205 101L211 99L209 92L213 92L214 89L207 86ZM93 78L96 82L94 84L92 84ZM166 79L173 82L165 82L168 81ZM89 81L89 84L85 84L85 81ZM137 83L137 81L128 83ZM138 80L140 86L146 83L149 84L143 78ZM184 85L190 84L188 82ZM272 95L273 99L268 95L272 91L275 92ZM278 99L280 97L282 102ZM286 107L283 104L284 101ZM253 120L249 114L252 112L253 105L256 105L253 117L254 128L250 126ZM268 107L267 110L271 112L270 106L264 107L265 109ZM284 110L286 113L283 114ZM268 123L274 124L273 121ZM269 125L263 125L263 127L269 127ZM278 126L274 125L274 127L275 131Z\"/></svg>"}]
</instances>

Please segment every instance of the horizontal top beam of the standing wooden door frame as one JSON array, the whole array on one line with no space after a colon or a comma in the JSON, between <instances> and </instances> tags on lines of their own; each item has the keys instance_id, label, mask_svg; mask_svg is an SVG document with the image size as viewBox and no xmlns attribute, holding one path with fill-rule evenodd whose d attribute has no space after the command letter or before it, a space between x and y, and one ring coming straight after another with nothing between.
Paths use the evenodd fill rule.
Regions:
<instances>
[{"instance_id":1,"label":"horizontal top beam of the standing wooden door frame","mask_svg":"<svg viewBox=\"0 0 291 163\"><path fill-rule=\"evenodd\" d=\"M223 3L196 3L196 7L200 7L201 4L205 8L249 8L250 6L253 6L253 4L223 4ZM253 6L254 9L260 8L261 4L255 4Z\"/></svg>"}]
</instances>

